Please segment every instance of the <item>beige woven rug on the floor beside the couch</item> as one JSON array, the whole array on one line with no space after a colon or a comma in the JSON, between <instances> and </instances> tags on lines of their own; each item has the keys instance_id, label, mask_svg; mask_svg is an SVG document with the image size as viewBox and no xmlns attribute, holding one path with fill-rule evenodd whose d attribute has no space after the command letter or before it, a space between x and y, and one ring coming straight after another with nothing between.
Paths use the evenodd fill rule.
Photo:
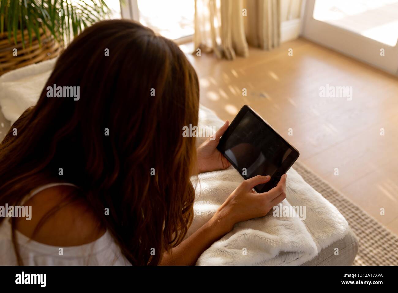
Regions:
<instances>
[{"instance_id":1,"label":"beige woven rug on the floor beside the couch","mask_svg":"<svg viewBox=\"0 0 398 293\"><path fill-rule=\"evenodd\" d=\"M309 185L336 206L359 239L358 254L353 265L398 265L398 237L395 234L302 163L296 162L293 168Z\"/></svg>"}]
</instances>

